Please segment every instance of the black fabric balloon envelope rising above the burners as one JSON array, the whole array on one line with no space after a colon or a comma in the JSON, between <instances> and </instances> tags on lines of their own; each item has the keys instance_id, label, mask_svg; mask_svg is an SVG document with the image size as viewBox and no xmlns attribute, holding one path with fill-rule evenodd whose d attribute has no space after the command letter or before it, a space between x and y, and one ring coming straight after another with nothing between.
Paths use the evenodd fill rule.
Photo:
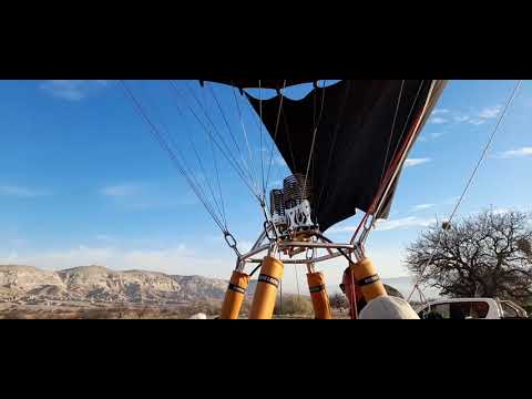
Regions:
<instances>
[{"instance_id":1,"label":"black fabric balloon envelope rising above the burners","mask_svg":"<svg viewBox=\"0 0 532 399\"><path fill-rule=\"evenodd\" d=\"M217 82L241 89L258 86L256 80ZM290 80L286 86L308 82ZM393 155L411 134L419 135L446 83L342 80L327 88L315 86L301 100L246 96L262 115L290 171L305 174L309 165L314 214L325 232L352 216L357 208L369 212ZM282 80L260 81L267 89L282 89L284 84ZM398 181L399 175L382 198L385 204L377 217L388 217Z\"/></svg>"}]
</instances>

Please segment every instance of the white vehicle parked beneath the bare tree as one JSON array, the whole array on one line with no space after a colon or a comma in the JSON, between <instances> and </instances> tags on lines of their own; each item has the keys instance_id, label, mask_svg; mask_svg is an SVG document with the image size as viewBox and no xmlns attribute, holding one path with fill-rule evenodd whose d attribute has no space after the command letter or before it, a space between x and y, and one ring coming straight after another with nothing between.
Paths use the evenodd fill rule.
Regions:
<instances>
[{"instance_id":1,"label":"white vehicle parked beneath the bare tree","mask_svg":"<svg viewBox=\"0 0 532 399\"><path fill-rule=\"evenodd\" d=\"M526 311L510 300L493 298L440 299L416 309L421 319L528 318Z\"/></svg>"}]
</instances>

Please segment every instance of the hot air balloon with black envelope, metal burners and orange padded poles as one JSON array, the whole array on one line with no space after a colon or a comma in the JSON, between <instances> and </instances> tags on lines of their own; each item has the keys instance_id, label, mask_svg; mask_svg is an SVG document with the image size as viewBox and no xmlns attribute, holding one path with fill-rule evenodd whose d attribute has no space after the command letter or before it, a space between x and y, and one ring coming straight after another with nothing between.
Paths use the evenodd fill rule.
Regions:
<instances>
[{"instance_id":1,"label":"hot air balloon with black envelope, metal burners and orange padded poles","mask_svg":"<svg viewBox=\"0 0 532 399\"><path fill-rule=\"evenodd\" d=\"M308 83L313 89L304 98L294 100L285 95L287 88ZM222 318L239 316L249 279L258 269L249 318L272 318L287 264L307 266L316 318L331 318L324 275L315 266L340 256L349 263L366 300L386 295L375 265L365 254L364 243L375 222L388 217L405 161L447 81L340 80L320 85L313 80L206 78L200 84L202 90L212 84L228 86L245 99L291 173L269 193L265 193L264 184L262 192L254 192L264 225L249 252L241 254L236 239L221 226L237 257ZM253 94L257 89L275 90L276 94L257 98ZM139 102L135 105L142 113L142 105ZM194 113L198 121L208 124L208 117ZM216 126L212 125L208 134L225 155L228 147L216 137ZM154 133L164 147L164 137L157 135L156 129ZM228 154L227 160L244 180L248 171ZM177 157L174 161L186 177L186 168ZM197 187L194 192L201 194ZM330 227L357 212L364 213L364 217L348 243L327 238ZM318 249L327 254L317 256ZM298 254L305 257L297 257Z\"/></svg>"}]
</instances>

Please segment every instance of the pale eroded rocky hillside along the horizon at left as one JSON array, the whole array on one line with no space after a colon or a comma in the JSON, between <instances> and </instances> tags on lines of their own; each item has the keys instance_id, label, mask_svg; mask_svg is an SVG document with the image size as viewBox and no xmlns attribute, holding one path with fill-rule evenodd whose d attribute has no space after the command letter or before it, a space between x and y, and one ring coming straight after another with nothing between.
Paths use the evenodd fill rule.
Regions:
<instances>
[{"instance_id":1,"label":"pale eroded rocky hillside along the horizon at left","mask_svg":"<svg viewBox=\"0 0 532 399\"><path fill-rule=\"evenodd\" d=\"M226 288L227 282L223 279L140 270L114 272L102 266L61 272L32 266L0 266L0 300L171 304L221 300Z\"/></svg>"}]
</instances>

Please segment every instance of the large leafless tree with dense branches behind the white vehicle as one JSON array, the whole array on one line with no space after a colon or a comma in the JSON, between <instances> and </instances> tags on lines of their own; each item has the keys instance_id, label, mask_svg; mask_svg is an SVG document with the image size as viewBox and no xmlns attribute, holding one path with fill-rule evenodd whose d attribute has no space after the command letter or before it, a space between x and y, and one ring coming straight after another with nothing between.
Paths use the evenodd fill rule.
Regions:
<instances>
[{"instance_id":1,"label":"large leafless tree with dense branches behind the white vehicle","mask_svg":"<svg viewBox=\"0 0 532 399\"><path fill-rule=\"evenodd\" d=\"M531 242L529 214L484 211L430 227L407 248L406 265L419 276L433 254L421 283L441 295L524 300L532 296Z\"/></svg>"}]
</instances>

